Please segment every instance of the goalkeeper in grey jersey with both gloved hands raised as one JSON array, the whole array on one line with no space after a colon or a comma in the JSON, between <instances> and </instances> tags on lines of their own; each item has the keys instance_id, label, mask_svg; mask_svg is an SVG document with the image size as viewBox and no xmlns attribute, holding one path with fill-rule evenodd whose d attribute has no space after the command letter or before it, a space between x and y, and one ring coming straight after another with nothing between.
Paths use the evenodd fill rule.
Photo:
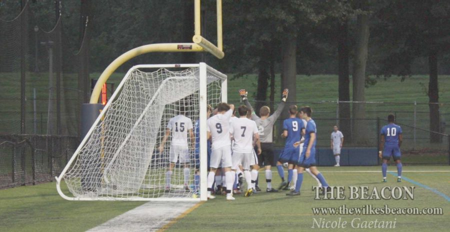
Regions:
<instances>
[{"instance_id":1,"label":"goalkeeper in grey jersey with both gloved hands raised","mask_svg":"<svg viewBox=\"0 0 450 232\"><path fill-rule=\"evenodd\" d=\"M245 89L239 90L239 94L240 97L242 98L242 101L245 103L247 108L252 111L251 120L255 121L256 125L258 126L259 140L261 141L261 150L262 150L261 155L258 156L258 158L260 158L258 162L259 166L265 165L265 182L267 183L266 192L268 193L278 192L277 190L272 188L271 183L272 171L270 170L270 168L272 166L275 166L275 163L273 162L274 157L273 157L272 132L273 132L273 124L276 122L276 119L279 117L281 111L284 108L288 92L289 92L288 89L283 90L281 102L276 108L276 111L273 112L271 116L269 116L270 108L268 106L262 106L259 109L259 115L261 117L258 117L252 110L251 105L247 100L247 91L245 91ZM284 181L284 178L281 178L281 180Z\"/></svg>"}]
</instances>

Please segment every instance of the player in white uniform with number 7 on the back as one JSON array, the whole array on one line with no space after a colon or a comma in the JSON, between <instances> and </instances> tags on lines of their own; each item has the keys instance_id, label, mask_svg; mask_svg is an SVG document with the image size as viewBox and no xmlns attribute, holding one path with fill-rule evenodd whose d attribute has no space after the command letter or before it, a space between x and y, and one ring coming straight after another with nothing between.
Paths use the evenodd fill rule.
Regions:
<instances>
[{"instance_id":1,"label":"player in white uniform with number 7 on the back","mask_svg":"<svg viewBox=\"0 0 450 232\"><path fill-rule=\"evenodd\" d=\"M234 138L231 171L235 172L239 169L239 165L242 165L247 182L247 191L244 196L249 197L253 193L249 171L251 160L254 159L253 144L259 139L259 134L256 123L246 117L247 107L241 105L237 111L239 118L233 120L229 128Z\"/></svg>"}]
</instances>

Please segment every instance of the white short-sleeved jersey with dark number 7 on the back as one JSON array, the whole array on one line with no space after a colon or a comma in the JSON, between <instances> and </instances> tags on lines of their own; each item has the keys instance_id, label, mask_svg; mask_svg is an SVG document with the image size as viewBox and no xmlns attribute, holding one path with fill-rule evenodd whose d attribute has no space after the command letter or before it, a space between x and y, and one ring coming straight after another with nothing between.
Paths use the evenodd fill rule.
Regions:
<instances>
[{"instance_id":1,"label":"white short-sleeved jersey with dark number 7 on the back","mask_svg":"<svg viewBox=\"0 0 450 232\"><path fill-rule=\"evenodd\" d=\"M256 123L248 118L233 120L229 132L234 138L233 153L252 153L253 135L258 133Z\"/></svg>"}]
</instances>

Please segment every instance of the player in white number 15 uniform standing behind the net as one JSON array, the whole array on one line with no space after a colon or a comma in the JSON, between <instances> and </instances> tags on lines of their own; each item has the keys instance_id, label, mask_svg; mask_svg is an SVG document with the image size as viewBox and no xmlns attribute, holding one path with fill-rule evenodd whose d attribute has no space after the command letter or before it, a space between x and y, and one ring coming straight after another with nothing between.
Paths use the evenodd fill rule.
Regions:
<instances>
[{"instance_id":1,"label":"player in white number 15 uniform standing behind the net","mask_svg":"<svg viewBox=\"0 0 450 232\"><path fill-rule=\"evenodd\" d=\"M189 170L189 148L187 144L187 136L191 144L191 149L194 149L195 141L192 132L192 120L184 116L184 109L180 107L179 115L171 118L165 128L165 135L159 145L159 152L164 151L164 144L169 135L172 135L170 144L170 164L168 170L165 173L165 190L170 191L170 179L172 175L172 169L175 167L176 162L184 164L184 190L189 191L188 180L190 175Z\"/></svg>"}]
</instances>

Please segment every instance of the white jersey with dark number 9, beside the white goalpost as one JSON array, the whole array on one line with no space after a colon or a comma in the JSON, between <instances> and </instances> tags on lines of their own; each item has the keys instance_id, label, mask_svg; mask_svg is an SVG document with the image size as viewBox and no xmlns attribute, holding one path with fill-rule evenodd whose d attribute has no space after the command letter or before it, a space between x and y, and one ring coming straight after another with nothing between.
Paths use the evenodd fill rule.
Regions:
<instances>
[{"instance_id":1,"label":"white jersey with dark number 9, beside the white goalpost","mask_svg":"<svg viewBox=\"0 0 450 232\"><path fill-rule=\"evenodd\" d=\"M211 133L211 150L230 146L229 139L229 118L233 111L230 109L224 114L216 114L207 121L207 131Z\"/></svg>"}]
</instances>

